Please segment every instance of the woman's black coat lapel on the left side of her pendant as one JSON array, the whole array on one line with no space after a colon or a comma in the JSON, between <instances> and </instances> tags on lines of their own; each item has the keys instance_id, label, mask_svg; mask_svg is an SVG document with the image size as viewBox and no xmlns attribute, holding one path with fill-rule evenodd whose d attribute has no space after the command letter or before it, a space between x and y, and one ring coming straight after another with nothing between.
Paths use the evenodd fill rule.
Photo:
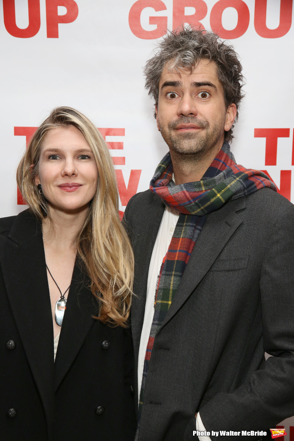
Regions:
<instances>
[{"instance_id":1,"label":"woman's black coat lapel on the left side of her pendant","mask_svg":"<svg viewBox=\"0 0 294 441\"><path fill-rule=\"evenodd\" d=\"M50 415L53 324L40 224L26 210L16 217L9 236L1 239L0 262L8 299L45 411Z\"/></svg>"}]
</instances>

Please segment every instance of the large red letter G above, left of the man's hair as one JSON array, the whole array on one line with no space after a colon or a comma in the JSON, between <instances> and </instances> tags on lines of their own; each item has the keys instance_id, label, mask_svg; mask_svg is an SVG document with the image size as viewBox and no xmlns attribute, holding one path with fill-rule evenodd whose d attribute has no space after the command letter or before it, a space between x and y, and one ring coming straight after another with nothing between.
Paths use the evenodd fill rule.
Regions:
<instances>
[{"instance_id":1,"label":"large red letter G above, left of the man's hair","mask_svg":"<svg viewBox=\"0 0 294 441\"><path fill-rule=\"evenodd\" d=\"M133 34L138 38L152 40L160 38L167 33L167 17L149 17L149 25L157 25L157 28L151 31L143 29L141 26L141 13L143 9L151 7L155 12L165 11L166 5L161 0L138 0L130 9L129 26Z\"/></svg>"}]
</instances>

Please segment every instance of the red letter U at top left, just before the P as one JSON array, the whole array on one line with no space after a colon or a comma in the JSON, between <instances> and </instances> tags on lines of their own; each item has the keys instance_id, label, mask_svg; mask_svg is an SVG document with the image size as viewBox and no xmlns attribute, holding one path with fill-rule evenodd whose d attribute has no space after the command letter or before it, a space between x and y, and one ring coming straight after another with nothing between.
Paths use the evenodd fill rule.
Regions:
<instances>
[{"instance_id":1,"label":"red letter U at top left, just before the P","mask_svg":"<svg viewBox=\"0 0 294 441\"><path fill-rule=\"evenodd\" d=\"M40 19L40 0L28 0L28 26L20 29L16 25L15 0L3 0L4 26L13 37L30 38L39 32Z\"/></svg>"}]
</instances>

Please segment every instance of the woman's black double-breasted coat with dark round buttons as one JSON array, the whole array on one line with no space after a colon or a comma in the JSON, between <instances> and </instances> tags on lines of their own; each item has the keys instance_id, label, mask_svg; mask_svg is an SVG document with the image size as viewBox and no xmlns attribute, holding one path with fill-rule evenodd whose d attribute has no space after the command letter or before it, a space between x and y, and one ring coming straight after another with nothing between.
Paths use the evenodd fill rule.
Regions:
<instances>
[{"instance_id":1,"label":"woman's black double-breasted coat with dark round buttons","mask_svg":"<svg viewBox=\"0 0 294 441\"><path fill-rule=\"evenodd\" d=\"M129 330L92 318L82 281L75 266L54 363L40 224L0 220L0 440L134 439Z\"/></svg>"}]
</instances>

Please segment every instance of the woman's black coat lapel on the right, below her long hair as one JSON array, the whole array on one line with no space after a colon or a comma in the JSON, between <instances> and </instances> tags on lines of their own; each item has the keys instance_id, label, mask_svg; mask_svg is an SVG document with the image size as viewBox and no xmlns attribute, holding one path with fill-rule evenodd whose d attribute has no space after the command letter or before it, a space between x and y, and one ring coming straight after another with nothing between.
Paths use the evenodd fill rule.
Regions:
<instances>
[{"instance_id":1,"label":"woman's black coat lapel on the right, below her long hair","mask_svg":"<svg viewBox=\"0 0 294 441\"><path fill-rule=\"evenodd\" d=\"M92 316L98 315L98 303L87 288L89 283L75 265L55 358L55 391L96 321Z\"/></svg>"}]
</instances>

